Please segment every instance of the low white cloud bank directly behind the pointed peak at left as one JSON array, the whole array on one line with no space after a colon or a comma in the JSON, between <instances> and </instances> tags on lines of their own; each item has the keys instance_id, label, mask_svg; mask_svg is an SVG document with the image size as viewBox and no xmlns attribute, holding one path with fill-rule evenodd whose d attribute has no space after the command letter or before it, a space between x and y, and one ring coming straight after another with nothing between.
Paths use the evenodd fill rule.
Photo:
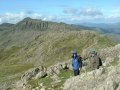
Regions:
<instances>
[{"instance_id":1,"label":"low white cloud bank directly behind the pointed peak at left","mask_svg":"<svg viewBox=\"0 0 120 90\"><path fill-rule=\"evenodd\" d=\"M32 12L20 12L20 13L5 13L0 15L0 23L17 23L25 17L31 17L33 19L42 19L45 21L55 21L57 20L56 16L45 16L39 13Z\"/></svg>"}]
</instances>

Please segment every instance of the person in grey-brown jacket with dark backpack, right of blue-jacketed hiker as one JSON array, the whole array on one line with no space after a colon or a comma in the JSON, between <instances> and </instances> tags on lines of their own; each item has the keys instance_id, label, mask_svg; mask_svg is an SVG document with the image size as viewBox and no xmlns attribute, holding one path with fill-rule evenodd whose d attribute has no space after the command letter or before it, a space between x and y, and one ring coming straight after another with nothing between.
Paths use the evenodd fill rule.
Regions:
<instances>
[{"instance_id":1,"label":"person in grey-brown jacket with dark backpack, right of blue-jacketed hiker","mask_svg":"<svg viewBox=\"0 0 120 90\"><path fill-rule=\"evenodd\" d=\"M95 50L93 50L90 54L90 63L92 69L99 69L99 67L102 66L101 58L97 55L97 52Z\"/></svg>"}]
</instances>

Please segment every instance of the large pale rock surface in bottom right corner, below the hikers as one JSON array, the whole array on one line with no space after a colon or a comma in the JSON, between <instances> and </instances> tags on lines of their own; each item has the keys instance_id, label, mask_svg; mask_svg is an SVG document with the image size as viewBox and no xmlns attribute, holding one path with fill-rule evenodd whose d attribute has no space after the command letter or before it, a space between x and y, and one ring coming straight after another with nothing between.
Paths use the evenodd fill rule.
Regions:
<instances>
[{"instance_id":1,"label":"large pale rock surface in bottom right corner, below the hikers","mask_svg":"<svg viewBox=\"0 0 120 90\"><path fill-rule=\"evenodd\" d=\"M100 68L68 79L64 90L120 90L120 65Z\"/></svg>"}]
</instances>

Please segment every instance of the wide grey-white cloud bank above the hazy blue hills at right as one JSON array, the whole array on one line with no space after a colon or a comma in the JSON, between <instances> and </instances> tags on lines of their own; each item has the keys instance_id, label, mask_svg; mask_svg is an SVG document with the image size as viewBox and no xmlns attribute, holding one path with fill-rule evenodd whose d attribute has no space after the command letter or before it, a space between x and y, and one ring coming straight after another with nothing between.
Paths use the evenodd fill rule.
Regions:
<instances>
[{"instance_id":1,"label":"wide grey-white cloud bank above the hazy blue hills at right","mask_svg":"<svg viewBox=\"0 0 120 90\"><path fill-rule=\"evenodd\" d=\"M70 10L68 10L70 11ZM80 8L76 10L76 13L64 13L70 14L68 19L71 22L119 22L120 21L120 9L110 10L105 12L104 10L97 8ZM103 12L104 11L104 12Z\"/></svg>"}]
</instances>

